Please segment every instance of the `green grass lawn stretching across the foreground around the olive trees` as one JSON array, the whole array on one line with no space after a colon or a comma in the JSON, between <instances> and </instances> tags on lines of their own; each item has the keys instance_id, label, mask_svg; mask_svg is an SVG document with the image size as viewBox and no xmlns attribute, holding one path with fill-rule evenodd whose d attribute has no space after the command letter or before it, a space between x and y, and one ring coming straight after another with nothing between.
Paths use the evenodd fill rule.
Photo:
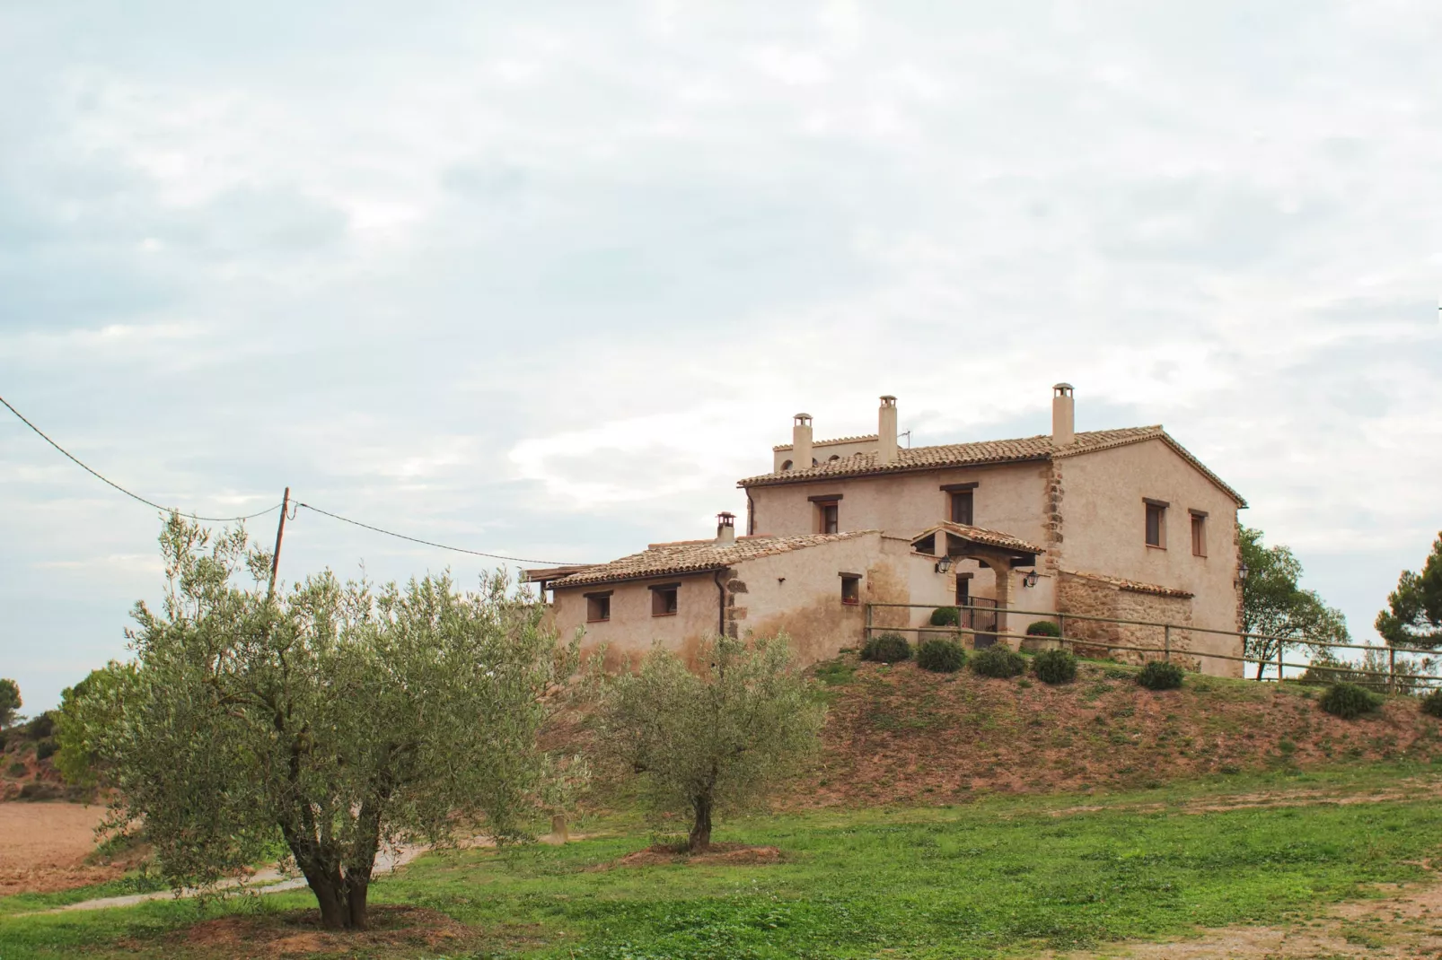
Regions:
<instances>
[{"instance_id":1,"label":"green grass lawn stretching across the foreground around the olive trees","mask_svg":"<svg viewBox=\"0 0 1442 960\"><path fill-rule=\"evenodd\" d=\"M950 959L1276 923L1368 895L1373 884L1428 879L1419 861L1439 853L1442 804L1425 796L1211 813L1178 804L1265 787L1345 793L1403 775L1442 773L1256 775L1106 797L1099 810L1063 816L1054 814L1079 797L823 810L718 832L724 842L779 846L786 859L769 866L606 869L649 843L633 822L613 820L613 836L428 856L376 884L376 905L425 907L476 927L459 951L398 943L326 956ZM14 911L0 899L0 960L186 956L173 931L200 917L257 912L280 923L311 905L281 894L203 914L190 902L153 902L6 917Z\"/></svg>"}]
</instances>

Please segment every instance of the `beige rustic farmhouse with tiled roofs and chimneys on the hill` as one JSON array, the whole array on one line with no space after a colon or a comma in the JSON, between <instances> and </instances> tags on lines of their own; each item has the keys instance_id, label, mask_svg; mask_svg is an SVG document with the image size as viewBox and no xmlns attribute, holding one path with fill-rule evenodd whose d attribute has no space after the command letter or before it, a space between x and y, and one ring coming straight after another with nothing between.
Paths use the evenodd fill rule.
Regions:
<instances>
[{"instance_id":1,"label":"beige rustic farmhouse with tiled roofs and chimneys on the hill","mask_svg":"<svg viewBox=\"0 0 1442 960\"><path fill-rule=\"evenodd\" d=\"M1242 656L1230 631L1246 502L1161 427L1076 432L1073 388L1057 383L1051 404L1050 435L913 448L897 443L894 396L867 437L813 440L812 417L796 414L771 470L738 483L744 535L722 513L712 539L526 579L551 592L562 636L583 628L585 646L620 656L784 630L812 663L858 647L868 626L923 637L932 608L956 604L976 646L1045 618L1011 611L1141 620L1175 627L1073 618L1066 634L1123 646L1165 634L1191 666L1240 676L1217 654Z\"/></svg>"}]
</instances>

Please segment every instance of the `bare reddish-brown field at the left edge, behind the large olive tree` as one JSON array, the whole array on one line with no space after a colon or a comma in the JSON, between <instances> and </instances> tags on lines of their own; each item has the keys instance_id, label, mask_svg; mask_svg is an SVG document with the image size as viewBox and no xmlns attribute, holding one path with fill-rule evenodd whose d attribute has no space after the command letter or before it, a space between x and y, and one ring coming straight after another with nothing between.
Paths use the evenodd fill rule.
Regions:
<instances>
[{"instance_id":1,"label":"bare reddish-brown field at the left edge, behind the large olive tree","mask_svg":"<svg viewBox=\"0 0 1442 960\"><path fill-rule=\"evenodd\" d=\"M0 803L0 897L48 894L101 884L121 865L87 865L105 807L79 803Z\"/></svg>"}]
</instances>

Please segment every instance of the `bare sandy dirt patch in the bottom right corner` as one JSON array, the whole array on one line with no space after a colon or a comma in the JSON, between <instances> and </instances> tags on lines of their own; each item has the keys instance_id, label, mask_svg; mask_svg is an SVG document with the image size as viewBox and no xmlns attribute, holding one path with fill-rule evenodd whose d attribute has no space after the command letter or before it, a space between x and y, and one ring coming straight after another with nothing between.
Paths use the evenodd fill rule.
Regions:
<instances>
[{"instance_id":1,"label":"bare sandy dirt patch in the bottom right corner","mask_svg":"<svg viewBox=\"0 0 1442 960\"><path fill-rule=\"evenodd\" d=\"M1380 888L1383 899L1338 904L1289 927L1223 927L1193 940L1119 944L1048 960L1350 960L1442 957L1442 886Z\"/></svg>"}]
</instances>

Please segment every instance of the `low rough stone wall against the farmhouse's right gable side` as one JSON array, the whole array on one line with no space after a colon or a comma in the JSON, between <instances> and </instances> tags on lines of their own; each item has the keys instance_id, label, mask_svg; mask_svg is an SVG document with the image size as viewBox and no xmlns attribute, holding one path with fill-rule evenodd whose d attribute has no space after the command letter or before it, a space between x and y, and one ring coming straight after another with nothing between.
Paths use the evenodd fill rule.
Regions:
<instances>
[{"instance_id":1,"label":"low rough stone wall against the farmhouse's right gable side","mask_svg":"<svg viewBox=\"0 0 1442 960\"><path fill-rule=\"evenodd\" d=\"M1057 584L1057 610L1063 614L1084 614L1089 617L1113 617L1116 620L1149 620L1152 623L1190 624L1191 598L1129 590L1125 585L1087 577L1084 574L1061 574ZM1162 627L1123 623L1097 623L1093 620L1067 620L1066 636L1082 656L1110 657L1120 663L1145 663L1162 659L1165 643ZM1109 650L1093 644L1122 644L1129 647L1156 647L1156 653L1139 650ZM1190 630L1171 631L1172 662L1195 670L1200 660L1188 654L1193 650L1194 634Z\"/></svg>"}]
</instances>

